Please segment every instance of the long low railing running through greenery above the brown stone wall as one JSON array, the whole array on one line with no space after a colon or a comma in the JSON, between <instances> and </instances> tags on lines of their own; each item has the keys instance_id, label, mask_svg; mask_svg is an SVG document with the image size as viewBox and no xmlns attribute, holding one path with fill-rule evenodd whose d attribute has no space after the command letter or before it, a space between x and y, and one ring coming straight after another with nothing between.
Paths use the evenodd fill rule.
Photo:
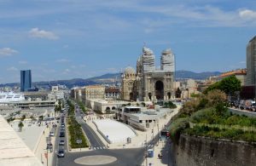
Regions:
<instances>
[{"instance_id":1,"label":"long low railing running through greenery above the brown stone wall","mask_svg":"<svg viewBox=\"0 0 256 166\"><path fill-rule=\"evenodd\" d=\"M246 127L240 125L222 125L222 124L207 124L207 123L190 123L189 127L194 128L195 126L207 126L210 128L218 128L218 129L241 129L243 132L256 132L256 128L254 127Z\"/></svg>"}]
</instances>

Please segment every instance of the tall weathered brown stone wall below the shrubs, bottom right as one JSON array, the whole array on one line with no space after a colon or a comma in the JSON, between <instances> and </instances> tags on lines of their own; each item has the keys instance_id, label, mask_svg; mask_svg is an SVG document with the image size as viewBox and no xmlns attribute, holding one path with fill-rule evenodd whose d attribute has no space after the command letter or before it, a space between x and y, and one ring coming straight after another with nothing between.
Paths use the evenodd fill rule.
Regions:
<instances>
[{"instance_id":1,"label":"tall weathered brown stone wall below the shrubs, bottom right","mask_svg":"<svg viewBox=\"0 0 256 166\"><path fill-rule=\"evenodd\" d=\"M181 135L173 155L177 166L255 166L256 144Z\"/></svg>"}]
</instances>

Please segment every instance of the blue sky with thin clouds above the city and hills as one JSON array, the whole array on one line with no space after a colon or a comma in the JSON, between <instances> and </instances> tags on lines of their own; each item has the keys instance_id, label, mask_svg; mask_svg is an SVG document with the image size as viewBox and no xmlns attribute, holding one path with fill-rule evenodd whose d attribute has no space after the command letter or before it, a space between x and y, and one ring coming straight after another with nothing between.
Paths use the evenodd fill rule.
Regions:
<instances>
[{"instance_id":1,"label":"blue sky with thin clouds above the city and hills","mask_svg":"<svg viewBox=\"0 0 256 166\"><path fill-rule=\"evenodd\" d=\"M255 0L0 0L0 83L100 76L136 67L143 46L176 69L246 67Z\"/></svg>"}]
</instances>

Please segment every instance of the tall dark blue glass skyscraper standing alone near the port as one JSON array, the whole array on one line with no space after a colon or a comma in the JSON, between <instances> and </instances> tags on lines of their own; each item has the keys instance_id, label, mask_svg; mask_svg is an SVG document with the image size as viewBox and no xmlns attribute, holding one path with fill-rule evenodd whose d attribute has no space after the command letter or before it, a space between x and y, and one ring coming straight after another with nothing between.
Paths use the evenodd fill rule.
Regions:
<instances>
[{"instance_id":1,"label":"tall dark blue glass skyscraper standing alone near the port","mask_svg":"<svg viewBox=\"0 0 256 166\"><path fill-rule=\"evenodd\" d=\"M20 71L20 92L32 88L31 70Z\"/></svg>"}]
</instances>

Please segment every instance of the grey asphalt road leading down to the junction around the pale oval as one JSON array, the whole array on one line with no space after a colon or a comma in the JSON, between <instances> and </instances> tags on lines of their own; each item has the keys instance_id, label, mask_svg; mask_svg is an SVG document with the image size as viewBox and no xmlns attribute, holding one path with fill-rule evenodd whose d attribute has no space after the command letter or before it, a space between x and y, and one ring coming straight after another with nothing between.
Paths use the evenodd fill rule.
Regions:
<instances>
[{"instance_id":1,"label":"grey asphalt road leading down to the junction around the pale oval","mask_svg":"<svg viewBox=\"0 0 256 166\"><path fill-rule=\"evenodd\" d=\"M144 151L145 148L133 148L133 149L108 149L106 145L102 143L102 140L96 135L95 131L90 128L90 126L84 122L84 120L81 117L81 113L79 109L76 109L75 112L76 119L78 123L81 124L82 129L84 129L84 133L86 134L87 138L90 141L91 151L87 152L67 152L67 140L65 149L65 157L53 158L53 165L54 166L80 166L78 163L74 163L74 160L79 157L86 157L86 156L94 156L94 155L106 155L111 157L116 157L117 160L113 163L104 164L106 166L137 166L142 165L143 163L143 157L144 157ZM67 132L66 132L67 133ZM58 137L55 142L55 149L58 150L58 144L59 144L59 128L57 129L56 137ZM67 139L67 135L65 137ZM148 144L150 146L150 144ZM151 145L153 146L153 145Z\"/></svg>"}]
</instances>

